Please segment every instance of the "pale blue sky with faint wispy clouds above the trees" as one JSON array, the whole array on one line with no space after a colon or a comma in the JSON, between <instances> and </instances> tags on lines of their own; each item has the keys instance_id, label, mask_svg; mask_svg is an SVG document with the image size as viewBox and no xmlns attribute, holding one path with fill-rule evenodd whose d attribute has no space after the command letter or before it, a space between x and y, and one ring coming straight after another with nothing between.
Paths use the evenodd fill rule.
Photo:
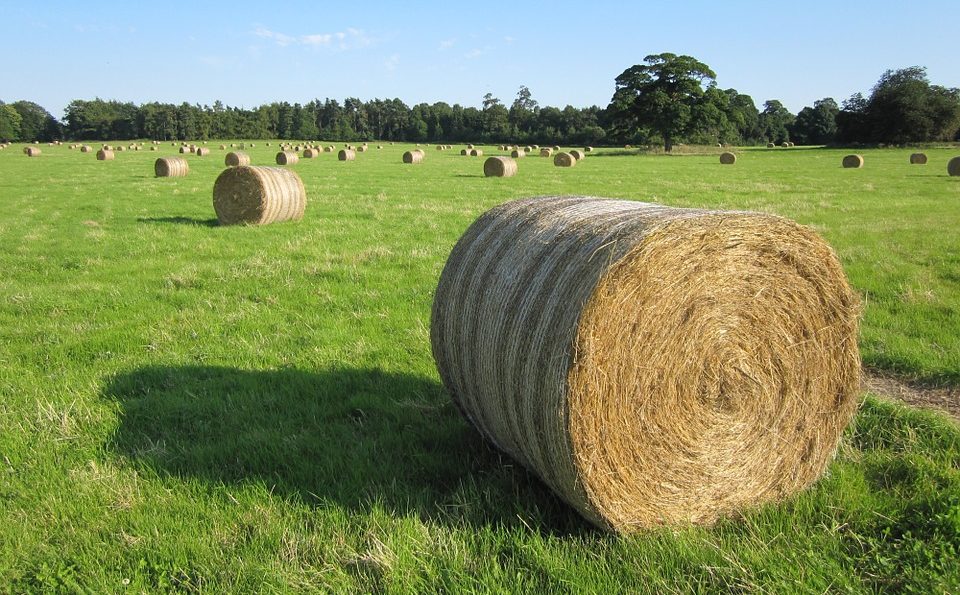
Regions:
<instances>
[{"instance_id":1,"label":"pale blue sky with faint wispy clouds above the trees","mask_svg":"<svg viewBox=\"0 0 960 595\"><path fill-rule=\"evenodd\" d=\"M72 99L253 107L313 98L408 105L605 106L624 69L689 54L722 88L814 100L888 68L960 87L956 0L905 2L23 2L0 0L0 99L61 117Z\"/></svg>"}]
</instances>

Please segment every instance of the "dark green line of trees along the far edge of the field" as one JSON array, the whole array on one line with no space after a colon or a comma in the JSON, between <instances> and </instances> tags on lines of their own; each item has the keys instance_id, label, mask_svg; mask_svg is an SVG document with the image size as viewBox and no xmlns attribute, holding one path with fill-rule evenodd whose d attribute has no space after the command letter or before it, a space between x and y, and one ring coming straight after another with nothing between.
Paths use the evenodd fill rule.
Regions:
<instances>
[{"instance_id":1,"label":"dark green line of trees along the far edge of the field","mask_svg":"<svg viewBox=\"0 0 960 595\"><path fill-rule=\"evenodd\" d=\"M526 86L506 105L481 107L348 97L255 108L103 99L71 101L62 121L31 101L0 101L0 139L204 140L228 138L603 145L894 144L960 140L960 90L933 85L922 67L885 72L868 96L831 97L797 114L770 99L758 108L691 56L647 56L615 81L606 107L540 106Z\"/></svg>"}]
</instances>

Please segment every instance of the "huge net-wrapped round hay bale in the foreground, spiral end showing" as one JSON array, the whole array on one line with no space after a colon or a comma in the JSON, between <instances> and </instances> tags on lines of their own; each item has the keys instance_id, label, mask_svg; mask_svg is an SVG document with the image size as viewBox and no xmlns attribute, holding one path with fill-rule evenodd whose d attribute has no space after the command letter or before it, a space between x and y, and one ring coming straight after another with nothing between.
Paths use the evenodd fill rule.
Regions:
<instances>
[{"instance_id":1,"label":"huge net-wrapped round hay bale in the foreground, spiral end showing","mask_svg":"<svg viewBox=\"0 0 960 595\"><path fill-rule=\"evenodd\" d=\"M547 197L464 233L430 330L483 436L635 531L814 482L857 408L858 314L834 252L787 219Z\"/></svg>"}]
</instances>

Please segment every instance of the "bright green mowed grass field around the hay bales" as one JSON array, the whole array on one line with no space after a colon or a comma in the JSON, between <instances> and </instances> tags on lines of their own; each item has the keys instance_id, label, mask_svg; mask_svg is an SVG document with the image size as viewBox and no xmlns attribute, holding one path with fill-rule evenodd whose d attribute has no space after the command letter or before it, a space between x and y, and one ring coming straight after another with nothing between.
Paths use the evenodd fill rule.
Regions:
<instances>
[{"instance_id":1,"label":"bright green mowed grass field around the hay bales","mask_svg":"<svg viewBox=\"0 0 960 595\"><path fill-rule=\"evenodd\" d=\"M255 141L254 164L276 142ZM574 168L371 145L291 166L299 223L219 227L226 151L0 151L0 592L960 590L960 429L867 398L827 476L713 528L591 528L444 394L432 293L505 200L589 194L815 227L867 366L960 383L960 149L601 150ZM501 154L483 147L486 155ZM228 149L229 150L229 149ZM718 151L719 152L719 151Z\"/></svg>"}]
</instances>

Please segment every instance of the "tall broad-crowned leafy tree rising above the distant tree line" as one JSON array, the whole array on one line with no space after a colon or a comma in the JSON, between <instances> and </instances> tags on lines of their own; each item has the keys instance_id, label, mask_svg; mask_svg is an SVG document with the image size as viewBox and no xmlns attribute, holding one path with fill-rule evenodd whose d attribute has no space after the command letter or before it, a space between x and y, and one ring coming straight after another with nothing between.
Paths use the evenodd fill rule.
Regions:
<instances>
[{"instance_id":1,"label":"tall broad-crowned leafy tree rising above the distant tree line","mask_svg":"<svg viewBox=\"0 0 960 595\"><path fill-rule=\"evenodd\" d=\"M647 56L616 79L616 90L608 109L612 123L621 133L647 129L663 140L665 151L678 139L702 125L697 116L712 110L698 110L704 87L713 86L717 75L691 56L663 53Z\"/></svg>"}]
</instances>

